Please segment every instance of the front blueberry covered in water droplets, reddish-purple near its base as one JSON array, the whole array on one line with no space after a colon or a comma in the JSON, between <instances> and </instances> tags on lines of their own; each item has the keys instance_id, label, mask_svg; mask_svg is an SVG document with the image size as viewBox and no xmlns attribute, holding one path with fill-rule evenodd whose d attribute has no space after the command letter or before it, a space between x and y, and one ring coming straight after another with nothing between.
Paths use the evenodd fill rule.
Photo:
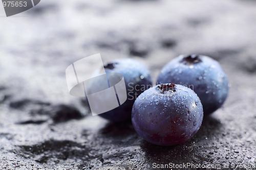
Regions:
<instances>
[{"instance_id":1,"label":"front blueberry covered in water droplets, reddish-purple near its base","mask_svg":"<svg viewBox=\"0 0 256 170\"><path fill-rule=\"evenodd\" d=\"M203 107L197 94L182 85L172 89L154 86L136 99L132 123L146 141L157 145L176 145L190 139L199 130Z\"/></svg>"}]
</instances>

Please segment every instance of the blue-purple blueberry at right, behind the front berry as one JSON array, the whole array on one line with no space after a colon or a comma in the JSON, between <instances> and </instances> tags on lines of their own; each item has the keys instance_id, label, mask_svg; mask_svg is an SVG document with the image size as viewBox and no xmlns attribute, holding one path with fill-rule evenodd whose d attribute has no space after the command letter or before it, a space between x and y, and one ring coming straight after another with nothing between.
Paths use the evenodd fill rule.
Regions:
<instances>
[{"instance_id":1,"label":"blue-purple blueberry at right, behind the front berry","mask_svg":"<svg viewBox=\"0 0 256 170\"><path fill-rule=\"evenodd\" d=\"M158 83L175 83L193 89L199 96L204 114L219 109L228 95L228 80L220 64L207 56L181 55L167 63Z\"/></svg>"}]
</instances>

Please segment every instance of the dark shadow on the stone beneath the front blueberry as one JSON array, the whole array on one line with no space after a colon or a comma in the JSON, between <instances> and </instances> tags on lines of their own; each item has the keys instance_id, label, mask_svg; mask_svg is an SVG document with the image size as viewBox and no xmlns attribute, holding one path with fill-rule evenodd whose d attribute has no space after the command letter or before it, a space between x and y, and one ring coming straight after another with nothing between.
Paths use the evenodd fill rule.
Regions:
<instances>
[{"instance_id":1,"label":"dark shadow on the stone beneath the front blueberry","mask_svg":"<svg viewBox=\"0 0 256 170\"><path fill-rule=\"evenodd\" d=\"M211 162L207 154L204 153L202 145L209 145L207 138L215 134L221 134L221 122L211 115L205 116L200 130L190 140L183 144L162 147L141 140L140 147L145 152L147 161L150 164L180 164L180 163L197 163ZM207 146L206 146L207 147Z\"/></svg>"}]
</instances>

